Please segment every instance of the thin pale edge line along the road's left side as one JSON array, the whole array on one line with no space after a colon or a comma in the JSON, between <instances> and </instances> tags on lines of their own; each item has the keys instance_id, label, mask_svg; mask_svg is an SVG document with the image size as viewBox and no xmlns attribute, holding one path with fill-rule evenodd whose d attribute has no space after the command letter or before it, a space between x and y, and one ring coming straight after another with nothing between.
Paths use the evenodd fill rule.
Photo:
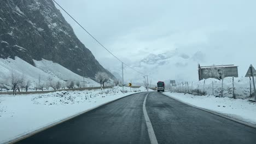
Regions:
<instances>
[{"instance_id":1,"label":"thin pale edge line along the road's left side","mask_svg":"<svg viewBox=\"0 0 256 144\"><path fill-rule=\"evenodd\" d=\"M138 92L138 93L143 93L143 92ZM133 93L133 94L137 94L137 93ZM44 130L46 130L46 129L49 129L49 128L51 128L51 127L54 127L54 126L57 125L57 124L66 122L66 121L68 121L69 119L72 119L72 118L74 118L74 117L77 117L77 116L79 116L79 115L82 115L83 113L89 112L89 111L94 110L94 109L96 109L96 108L98 108L98 107L100 107L100 106L103 106L103 105L112 103L113 101L116 101L116 100L119 100L119 99L128 97L128 96L130 96L130 95L132 95L132 94L125 95L124 97L121 97L121 98L118 98L118 99L114 99L114 100L108 101L108 102L103 103L103 104L101 104L101 105L97 105L97 106L95 106L95 107L92 107L91 109L88 109L88 110L79 112L79 113L77 113L77 114L75 114L75 115L73 115L73 116L69 116L69 117L67 117L67 118L61 119L60 121L50 123L49 125L47 125L47 126L45 126L45 127L43 127L43 128L39 128L39 129L37 129L37 130L32 131L31 133L28 133L28 134L25 134L25 135L23 135L23 136L17 137L17 138L15 138L15 139L13 139L13 140L7 140L7 141L5 141L5 142L3 141L3 143L15 143L15 142L21 141L21 140L26 139L27 137L30 137L30 136L32 136L32 135L34 135L34 134L37 134L37 133L41 132L41 131L44 131Z\"/></svg>"}]
</instances>

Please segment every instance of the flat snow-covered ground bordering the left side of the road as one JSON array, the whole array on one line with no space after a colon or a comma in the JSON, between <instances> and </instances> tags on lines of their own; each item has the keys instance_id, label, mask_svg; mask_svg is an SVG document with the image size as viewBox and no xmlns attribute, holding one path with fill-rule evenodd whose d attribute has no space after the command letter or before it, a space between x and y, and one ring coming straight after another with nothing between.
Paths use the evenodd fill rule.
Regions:
<instances>
[{"instance_id":1,"label":"flat snow-covered ground bordering the left side of the road","mask_svg":"<svg viewBox=\"0 0 256 144\"><path fill-rule=\"evenodd\" d=\"M121 87L91 91L61 91L46 94L0 96L0 143L61 121L146 88Z\"/></svg>"}]
</instances>

